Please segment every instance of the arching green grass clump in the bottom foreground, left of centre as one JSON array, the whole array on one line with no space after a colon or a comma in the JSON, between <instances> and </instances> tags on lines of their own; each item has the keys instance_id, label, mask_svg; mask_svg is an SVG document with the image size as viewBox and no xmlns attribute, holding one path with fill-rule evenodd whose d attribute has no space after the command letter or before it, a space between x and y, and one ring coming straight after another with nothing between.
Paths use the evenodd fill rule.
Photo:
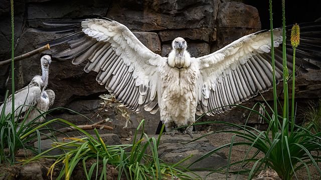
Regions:
<instances>
[{"instance_id":1,"label":"arching green grass clump in the bottom foreground, left of centre","mask_svg":"<svg viewBox=\"0 0 321 180\"><path fill-rule=\"evenodd\" d=\"M159 159L157 147L161 135L159 135L157 139L154 137L149 138L143 133L143 128L144 120L138 125L133 136L132 144L122 145L105 144L96 129L96 138L79 129L83 131L87 137L66 138L72 141L57 142L53 148L26 160L26 163L40 158L54 158L55 162L50 167L48 174L52 175L54 169L57 168L57 164L63 163L57 179L70 179L77 164L83 167L86 179L106 179L108 175L108 169L106 169L107 164L116 167L118 170L117 179L123 177L126 179L197 179L183 172L183 167L178 168L180 167L179 164L184 160L176 164L166 164ZM139 129L142 131L140 135L138 135ZM51 150L57 148L64 149L67 152L59 155L46 155ZM149 153L147 153L148 151ZM86 164L92 159L95 159L95 162L92 163L88 169ZM196 174L194 175L197 176Z\"/></svg>"}]
</instances>

